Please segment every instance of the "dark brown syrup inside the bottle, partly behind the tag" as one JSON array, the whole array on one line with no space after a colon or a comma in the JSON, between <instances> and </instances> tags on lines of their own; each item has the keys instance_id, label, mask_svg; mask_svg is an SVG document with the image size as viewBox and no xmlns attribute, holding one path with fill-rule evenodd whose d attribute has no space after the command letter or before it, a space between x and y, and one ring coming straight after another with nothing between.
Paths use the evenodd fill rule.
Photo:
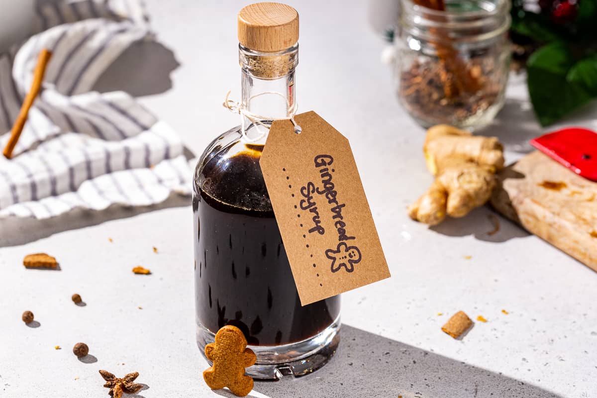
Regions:
<instances>
[{"instance_id":1,"label":"dark brown syrup inside the bottle, partly behind the tag","mask_svg":"<svg viewBox=\"0 0 597 398\"><path fill-rule=\"evenodd\" d=\"M333 323L340 298L301 306L259 168L262 148L216 153L195 181L197 319L214 333L238 326L251 345L296 343Z\"/></svg>"}]
</instances>

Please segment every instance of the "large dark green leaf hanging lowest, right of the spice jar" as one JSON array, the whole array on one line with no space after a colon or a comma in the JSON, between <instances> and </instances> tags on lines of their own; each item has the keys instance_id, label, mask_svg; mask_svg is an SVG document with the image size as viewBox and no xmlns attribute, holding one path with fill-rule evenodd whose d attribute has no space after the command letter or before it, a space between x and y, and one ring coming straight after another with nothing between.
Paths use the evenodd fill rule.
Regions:
<instances>
[{"instance_id":1,"label":"large dark green leaf hanging lowest, right of the spice jar","mask_svg":"<svg viewBox=\"0 0 597 398\"><path fill-rule=\"evenodd\" d=\"M553 42L528 59L528 92L541 125L552 124L589 102L593 95L577 81L568 81L575 60L567 46Z\"/></svg>"}]
</instances>

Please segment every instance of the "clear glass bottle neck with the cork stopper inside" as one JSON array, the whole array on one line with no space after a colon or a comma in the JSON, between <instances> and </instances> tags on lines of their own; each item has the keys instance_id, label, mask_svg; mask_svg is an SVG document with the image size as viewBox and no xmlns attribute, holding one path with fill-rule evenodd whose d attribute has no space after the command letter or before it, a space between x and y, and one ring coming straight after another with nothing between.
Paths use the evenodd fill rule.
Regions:
<instances>
[{"instance_id":1,"label":"clear glass bottle neck with the cork stopper inside","mask_svg":"<svg viewBox=\"0 0 597 398\"><path fill-rule=\"evenodd\" d=\"M294 70L298 64L298 45L279 53L260 53L239 46L242 67L242 107L253 115L261 116L263 124L270 125L277 118L285 118L296 107ZM245 137L257 143L265 142L267 128L256 125L246 116L242 118Z\"/></svg>"}]
</instances>

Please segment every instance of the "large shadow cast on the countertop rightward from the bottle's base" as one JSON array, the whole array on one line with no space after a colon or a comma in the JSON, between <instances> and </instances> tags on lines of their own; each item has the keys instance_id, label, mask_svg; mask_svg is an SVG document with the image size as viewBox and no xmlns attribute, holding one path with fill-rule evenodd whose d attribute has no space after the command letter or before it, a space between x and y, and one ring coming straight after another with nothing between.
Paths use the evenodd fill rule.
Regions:
<instances>
[{"instance_id":1,"label":"large shadow cast on the countertop rightward from the bottle's base","mask_svg":"<svg viewBox=\"0 0 597 398\"><path fill-rule=\"evenodd\" d=\"M347 325L341 328L336 356L323 368L301 378L256 382L254 391L272 398L562 398L535 385Z\"/></svg>"}]
</instances>

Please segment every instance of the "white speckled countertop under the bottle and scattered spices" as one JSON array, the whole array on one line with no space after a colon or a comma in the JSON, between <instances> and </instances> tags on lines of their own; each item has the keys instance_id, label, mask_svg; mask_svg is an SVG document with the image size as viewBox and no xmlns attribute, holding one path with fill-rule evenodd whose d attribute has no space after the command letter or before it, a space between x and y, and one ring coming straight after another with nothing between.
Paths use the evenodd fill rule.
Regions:
<instances>
[{"instance_id":1,"label":"white speckled countertop under the bottle and scattered spices","mask_svg":"<svg viewBox=\"0 0 597 398\"><path fill-rule=\"evenodd\" d=\"M159 42L180 66L173 70L164 47L146 44L100 84L152 94L141 101L195 155L238 124L221 101L229 89L239 95L236 12L247 2L220 3L147 1ZM597 274L503 218L488 236L488 208L433 229L411 221L405 206L432 181L424 129L396 101L365 2L293 5L300 110L316 110L349 138L392 277L343 295L342 341L327 366L257 382L251 396L596 397ZM540 133L524 81L513 80L505 109L483 131L503 140L507 161ZM572 120L595 128L588 115ZM1 221L0 397L104 397L99 369L138 371L149 386L138 398L216 396L195 343L192 238L189 199L176 197L153 208ZM24 269L33 252L56 256L61 270ZM139 264L153 274L132 274ZM75 292L87 306L70 301ZM24 310L38 328L21 322ZM453 340L440 328L458 310L488 322ZM79 341L91 363L72 354Z\"/></svg>"}]
</instances>

